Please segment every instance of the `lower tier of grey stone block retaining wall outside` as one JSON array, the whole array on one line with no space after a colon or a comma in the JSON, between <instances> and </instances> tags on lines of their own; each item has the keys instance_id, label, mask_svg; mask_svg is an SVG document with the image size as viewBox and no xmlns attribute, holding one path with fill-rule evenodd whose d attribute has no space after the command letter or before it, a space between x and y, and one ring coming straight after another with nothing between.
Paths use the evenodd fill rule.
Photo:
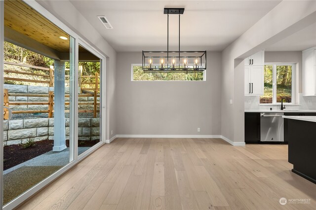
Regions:
<instances>
[{"instance_id":1,"label":"lower tier of grey stone block retaining wall outside","mask_svg":"<svg viewBox=\"0 0 316 210\"><path fill-rule=\"evenodd\" d=\"M69 118L65 119L66 140L69 140ZM100 118L79 118L78 139L100 139ZM25 143L34 140L54 140L54 118L10 120L3 126L4 145Z\"/></svg>"}]
</instances>

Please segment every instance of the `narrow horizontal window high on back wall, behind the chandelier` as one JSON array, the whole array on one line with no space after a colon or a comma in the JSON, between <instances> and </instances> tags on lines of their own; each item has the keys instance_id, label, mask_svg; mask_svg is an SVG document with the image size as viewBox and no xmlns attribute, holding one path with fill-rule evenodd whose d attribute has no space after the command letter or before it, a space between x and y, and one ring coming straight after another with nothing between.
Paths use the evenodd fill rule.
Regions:
<instances>
[{"instance_id":1,"label":"narrow horizontal window high on back wall, behind the chandelier","mask_svg":"<svg viewBox=\"0 0 316 210\"><path fill-rule=\"evenodd\" d=\"M131 81L205 81L203 72L154 72L142 70L141 64L132 64Z\"/></svg>"}]
</instances>

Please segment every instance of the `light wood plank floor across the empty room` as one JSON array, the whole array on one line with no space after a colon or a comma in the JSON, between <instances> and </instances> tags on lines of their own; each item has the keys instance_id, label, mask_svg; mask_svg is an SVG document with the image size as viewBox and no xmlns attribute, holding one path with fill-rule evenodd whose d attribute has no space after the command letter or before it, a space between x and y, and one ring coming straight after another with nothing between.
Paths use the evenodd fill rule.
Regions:
<instances>
[{"instance_id":1,"label":"light wood plank floor across the empty room","mask_svg":"<svg viewBox=\"0 0 316 210\"><path fill-rule=\"evenodd\" d=\"M316 209L316 184L291 169L287 145L118 138L20 209Z\"/></svg>"}]
</instances>

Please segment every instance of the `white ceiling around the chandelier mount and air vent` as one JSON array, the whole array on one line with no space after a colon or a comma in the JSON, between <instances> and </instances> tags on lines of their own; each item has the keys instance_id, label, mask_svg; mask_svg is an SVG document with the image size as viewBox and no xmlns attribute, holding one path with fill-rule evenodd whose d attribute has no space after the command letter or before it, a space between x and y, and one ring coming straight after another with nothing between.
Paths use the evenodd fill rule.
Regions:
<instances>
[{"instance_id":1,"label":"white ceiling around the chandelier mount and air vent","mask_svg":"<svg viewBox=\"0 0 316 210\"><path fill-rule=\"evenodd\" d=\"M279 0L72 0L72 4L118 51L166 50L164 7L184 7L182 50L223 50L260 20ZM114 29L106 29L105 15ZM169 16L169 50L178 47L178 15Z\"/></svg>"}]
</instances>

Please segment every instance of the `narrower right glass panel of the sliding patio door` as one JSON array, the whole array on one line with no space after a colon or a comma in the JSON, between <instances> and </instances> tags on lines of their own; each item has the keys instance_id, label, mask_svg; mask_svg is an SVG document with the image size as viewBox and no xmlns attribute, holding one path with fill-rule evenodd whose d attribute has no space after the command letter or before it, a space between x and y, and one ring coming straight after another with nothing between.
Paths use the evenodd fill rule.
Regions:
<instances>
[{"instance_id":1,"label":"narrower right glass panel of the sliding patio door","mask_svg":"<svg viewBox=\"0 0 316 210\"><path fill-rule=\"evenodd\" d=\"M100 64L79 45L78 154L100 142Z\"/></svg>"}]
</instances>

